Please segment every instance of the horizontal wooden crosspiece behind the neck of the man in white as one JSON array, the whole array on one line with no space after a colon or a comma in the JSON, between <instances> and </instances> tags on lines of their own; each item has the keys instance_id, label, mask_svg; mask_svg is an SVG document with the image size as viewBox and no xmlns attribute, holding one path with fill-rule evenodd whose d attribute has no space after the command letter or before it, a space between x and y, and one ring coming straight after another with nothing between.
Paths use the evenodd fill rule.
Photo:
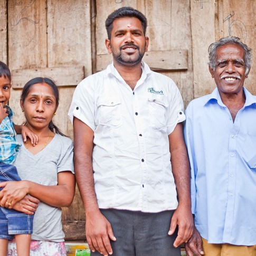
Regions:
<instances>
[{"instance_id":1,"label":"horizontal wooden crosspiece behind the neck of the man in white","mask_svg":"<svg viewBox=\"0 0 256 256\"><path fill-rule=\"evenodd\" d=\"M143 60L155 71L186 70L187 50L150 51ZM111 54L97 55L97 71L106 69L111 62Z\"/></svg>"}]
</instances>

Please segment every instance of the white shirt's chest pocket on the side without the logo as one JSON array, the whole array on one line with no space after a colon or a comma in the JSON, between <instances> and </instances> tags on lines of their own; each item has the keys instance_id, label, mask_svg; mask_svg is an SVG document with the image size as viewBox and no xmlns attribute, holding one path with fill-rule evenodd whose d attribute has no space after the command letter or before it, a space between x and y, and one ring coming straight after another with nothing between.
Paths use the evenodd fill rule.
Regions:
<instances>
[{"instance_id":1,"label":"white shirt's chest pocket on the side without the logo","mask_svg":"<svg viewBox=\"0 0 256 256\"><path fill-rule=\"evenodd\" d=\"M100 98L97 102L96 125L119 127L121 124L120 98Z\"/></svg>"}]
</instances>

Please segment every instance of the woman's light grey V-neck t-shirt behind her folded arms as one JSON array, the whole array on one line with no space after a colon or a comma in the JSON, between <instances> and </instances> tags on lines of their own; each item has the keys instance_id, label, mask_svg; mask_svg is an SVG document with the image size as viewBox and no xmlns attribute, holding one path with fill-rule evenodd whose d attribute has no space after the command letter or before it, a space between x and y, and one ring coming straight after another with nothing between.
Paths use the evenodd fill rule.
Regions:
<instances>
[{"instance_id":1,"label":"woman's light grey V-neck t-shirt behind her folded arms","mask_svg":"<svg viewBox=\"0 0 256 256\"><path fill-rule=\"evenodd\" d=\"M17 167L21 179L53 186L58 185L59 172L74 173L71 139L55 134L50 143L36 155L26 149L21 135L17 135L17 142L22 147L14 165ZM60 207L40 202L34 216L32 240L64 241Z\"/></svg>"}]
</instances>

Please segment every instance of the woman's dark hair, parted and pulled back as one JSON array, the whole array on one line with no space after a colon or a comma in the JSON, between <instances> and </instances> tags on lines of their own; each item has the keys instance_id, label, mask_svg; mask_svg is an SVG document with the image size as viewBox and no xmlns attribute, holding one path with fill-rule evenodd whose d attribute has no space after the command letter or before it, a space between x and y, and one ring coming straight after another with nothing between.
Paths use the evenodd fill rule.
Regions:
<instances>
[{"instance_id":1,"label":"woman's dark hair, parted and pulled back","mask_svg":"<svg viewBox=\"0 0 256 256\"><path fill-rule=\"evenodd\" d=\"M58 86L50 79L50 78L41 78L41 77L37 77L37 78L33 78L31 79L29 82L27 82L25 84L25 86L23 87L23 90L22 90L22 93L21 93L21 101L24 102L25 101L25 98L27 97L27 94L29 94L32 86L36 83L47 83L51 88L52 88L52 91L53 91L53 94L56 98L56 109L58 108L59 106L59 99L60 99L60 96L59 96L59 88ZM60 134L62 136L65 136L58 127L56 127L54 124L53 124L53 121L51 120L50 124L49 124L49 129L53 132L55 132L56 134Z\"/></svg>"}]
</instances>

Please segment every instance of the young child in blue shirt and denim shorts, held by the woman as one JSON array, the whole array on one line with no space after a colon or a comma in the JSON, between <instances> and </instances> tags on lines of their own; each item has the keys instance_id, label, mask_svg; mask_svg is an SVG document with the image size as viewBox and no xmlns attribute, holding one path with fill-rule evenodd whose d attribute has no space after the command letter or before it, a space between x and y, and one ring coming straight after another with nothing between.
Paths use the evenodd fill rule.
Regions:
<instances>
[{"instance_id":1,"label":"young child in blue shirt and denim shorts, held by the woman","mask_svg":"<svg viewBox=\"0 0 256 256\"><path fill-rule=\"evenodd\" d=\"M22 134L24 141L29 137L33 145L37 144L37 136L29 128L13 124L13 111L6 105L10 92L11 72L0 61L0 182L21 181L16 167L12 165L21 146L16 142L16 132ZM13 210L14 205L8 198L0 198L0 202L5 206L0 207L0 255L7 254L8 240L13 240L15 235L18 255L29 256L34 215Z\"/></svg>"}]
</instances>

